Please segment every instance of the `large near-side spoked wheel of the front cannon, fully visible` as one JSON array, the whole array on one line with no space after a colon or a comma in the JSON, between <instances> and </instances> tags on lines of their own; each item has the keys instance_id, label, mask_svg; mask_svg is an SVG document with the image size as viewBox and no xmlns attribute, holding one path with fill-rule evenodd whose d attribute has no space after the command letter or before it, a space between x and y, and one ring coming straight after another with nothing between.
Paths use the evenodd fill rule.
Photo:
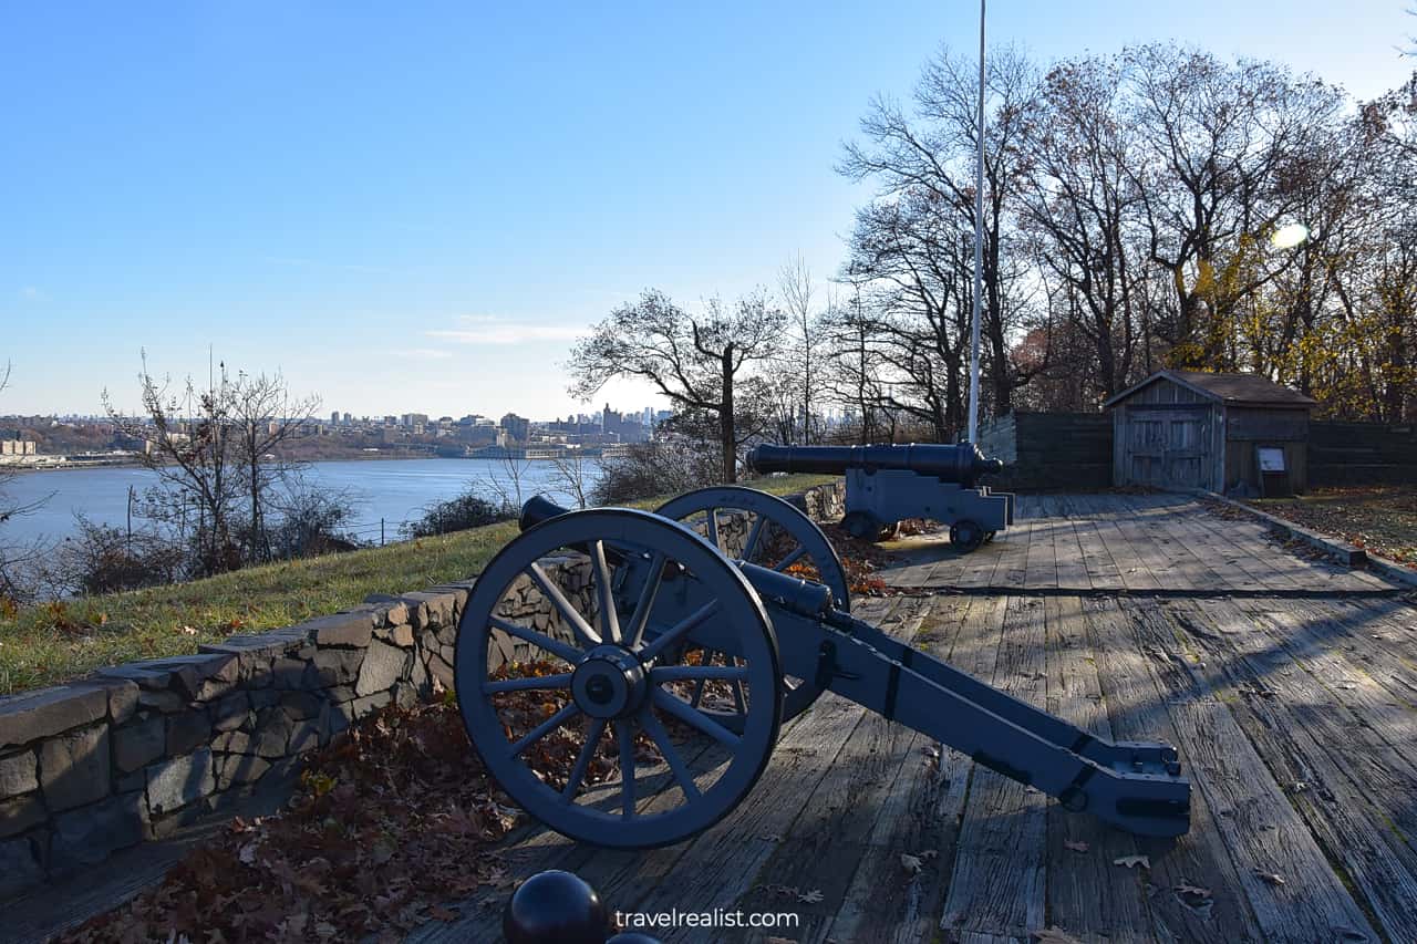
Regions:
<instances>
[{"instance_id":1,"label":"large near-side spoked wheel of the front cannon, fully visible","mask_svg":"<svg viewBox=\"0 0 1417 944\"><path fill-rule=\"evenodd\" d=\"M635 592L616 605L626 585ZM548 617L570 631L547 631ZM684 642L733 665L679 662ZM551 829L594 845L662 846L711 826L778 737L781 663L762 601L703 537L649 512L594 509L523 532L473 584L455 662L462 719L492 775ZM690 707L700 680L741 692L741 730ZM574 757L564 777L557 757Z\"/></svg>"}]
</instances>

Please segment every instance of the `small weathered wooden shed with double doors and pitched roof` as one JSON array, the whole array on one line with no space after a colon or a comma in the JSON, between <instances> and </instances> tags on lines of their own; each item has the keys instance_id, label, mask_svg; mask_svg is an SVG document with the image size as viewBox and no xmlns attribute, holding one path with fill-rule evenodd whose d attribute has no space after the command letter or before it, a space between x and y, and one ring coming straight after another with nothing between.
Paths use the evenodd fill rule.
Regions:
<instances>
[{"instance_id":1,"label":"small weathered wooden shed with double doors and pitched roof","mask_svg":"<svg viewBox=\"0 0 1417 944\"><path fill-rule=\"evenodd\" d=\"M1304 492L1314 404L1253 374L1159 370L1104 404L1112 411L1112 483Z\"/></svg>"}]
</instances>

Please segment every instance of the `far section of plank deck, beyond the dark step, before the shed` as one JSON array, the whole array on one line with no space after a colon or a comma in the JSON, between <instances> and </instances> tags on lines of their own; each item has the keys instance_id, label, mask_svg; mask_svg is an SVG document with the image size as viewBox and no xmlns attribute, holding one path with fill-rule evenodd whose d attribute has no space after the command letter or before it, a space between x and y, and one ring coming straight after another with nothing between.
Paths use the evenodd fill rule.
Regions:
<instances>
[{"instance_id":1,"label":"far section of plank deck, beyond the dark step, before the shed","mask_svg":"<svg viewBox=\"0 0 1417 944\"><path fill-rule=\"evenodd\" d=\"M1258 522L1224 519L1185 495L1022 495L1015 523L979 550L905 541L896 587L969 592L1243 595L1383 594L1379 575L1299 556Z\"/></svg>"}]
</instances>

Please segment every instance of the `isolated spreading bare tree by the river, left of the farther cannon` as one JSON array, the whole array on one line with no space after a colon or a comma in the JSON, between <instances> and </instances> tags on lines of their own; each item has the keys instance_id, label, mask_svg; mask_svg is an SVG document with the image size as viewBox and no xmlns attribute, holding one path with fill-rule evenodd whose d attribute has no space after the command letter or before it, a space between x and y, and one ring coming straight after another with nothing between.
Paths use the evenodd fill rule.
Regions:
<instances>
[{"instance_id":1,"label":"isolated spreading bare tree by the river, left of the farther cannon","mask_svg":"<svg viewBox=\"0 0 1417 944\"><path fill-rule=\"evenodd\" d=\"M726 308L710 299L701 316L650 289L622 305L571 350L570 393L594 397L615 377L640 377L683 411L711 415L718 427L723 481L737 479L738 431L734 384L745 370L772 359L784 313L762 292Z\"/></svg>"}]
</instances>

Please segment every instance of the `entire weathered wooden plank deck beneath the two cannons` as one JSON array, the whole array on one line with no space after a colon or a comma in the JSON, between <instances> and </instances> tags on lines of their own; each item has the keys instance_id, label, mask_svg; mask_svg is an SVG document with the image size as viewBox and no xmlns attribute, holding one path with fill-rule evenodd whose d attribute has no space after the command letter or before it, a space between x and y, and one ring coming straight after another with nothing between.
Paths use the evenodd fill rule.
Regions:
<instances>
[{"instance_id":1,"label":"entire weathered wooden plank deck beneath the two cannons","mask_svg":"<svg viewBox=\"0 0 1417 944\"><path fill-rule=\"evenodd\" d=\"M922 543L887 578L938 592L857 614L1095 734L1176 744L1187 835L1068 812L826 695L700 836L527 829L512 872L572 869L622 911L798 916L665 941L1417 940L1417 608L1396 588L1179 496L1024 499L968 558ZM459 910L410 940L497 940L500 900Z\"/></svg>"}]
</instances>

